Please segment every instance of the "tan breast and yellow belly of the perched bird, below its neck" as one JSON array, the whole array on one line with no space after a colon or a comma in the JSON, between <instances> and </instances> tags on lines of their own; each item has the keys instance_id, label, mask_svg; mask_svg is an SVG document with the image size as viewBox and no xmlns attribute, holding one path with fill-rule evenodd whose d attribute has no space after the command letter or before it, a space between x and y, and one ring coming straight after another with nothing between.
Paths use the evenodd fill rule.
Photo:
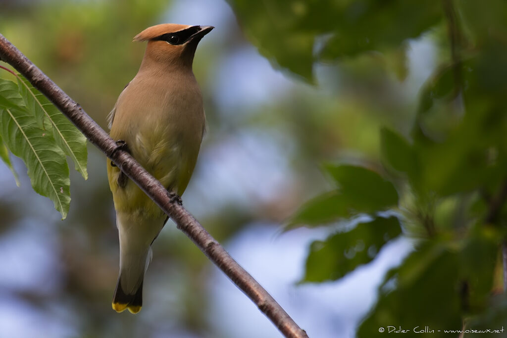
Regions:
<instances>
[{"instance_id":1,"label":"tan breast and yellow belly of the perched bird, below its neck","mask_svg":"<svg viewBox=\"0 0 507 338\"><path fill-rule=\"evenodd\" d=\"M202 139L205 123L202 99L197 83L167 87L167 83L151 81L153 78L136 76L125 88L117 103L111 137L125 140L130 154L142 167L166 189L182 195ZM142 97L150 100L138 99ZM108 174L117 211L163 216L135 183L127 180L125 186L118 185L118 168L108 168Z\"/></svg>"}]
</instances>

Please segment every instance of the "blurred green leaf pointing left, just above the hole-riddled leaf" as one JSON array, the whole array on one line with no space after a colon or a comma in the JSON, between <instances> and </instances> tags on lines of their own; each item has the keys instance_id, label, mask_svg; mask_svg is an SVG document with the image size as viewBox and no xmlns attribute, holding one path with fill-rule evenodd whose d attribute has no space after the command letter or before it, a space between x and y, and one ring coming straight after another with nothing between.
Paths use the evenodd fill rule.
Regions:
<instances>
[{"instance_id":1,"label":"blurred green leaf pointing left, just above the hole-riddled leaf","mask_svg":"<svg viewBox=\"0 0 507 338\"><path fill-rule=\"evenodd\" d=\"M349 215L347 200L338 191L332 191L306 202L289 220L287 228L303 224L318 226Z\"/></svg>"}]
</instances>

